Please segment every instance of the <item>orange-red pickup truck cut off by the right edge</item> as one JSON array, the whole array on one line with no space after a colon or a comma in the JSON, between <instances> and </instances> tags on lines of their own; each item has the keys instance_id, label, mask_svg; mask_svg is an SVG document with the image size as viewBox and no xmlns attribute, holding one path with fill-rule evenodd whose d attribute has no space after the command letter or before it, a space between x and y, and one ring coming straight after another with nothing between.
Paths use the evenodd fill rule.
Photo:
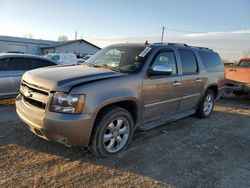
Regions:
<instances>
[{"instance_id":1,"label":"orange-red pickup truck cut off by the right edge","mask_svg":"<svg viewBox=\"0 0 250 188\"><path fill-rule=\"evenodd\" d=\"M227 93L250 93L250 58L242 58L234 67L225 67Z\"/></svg>"}]
</instances>

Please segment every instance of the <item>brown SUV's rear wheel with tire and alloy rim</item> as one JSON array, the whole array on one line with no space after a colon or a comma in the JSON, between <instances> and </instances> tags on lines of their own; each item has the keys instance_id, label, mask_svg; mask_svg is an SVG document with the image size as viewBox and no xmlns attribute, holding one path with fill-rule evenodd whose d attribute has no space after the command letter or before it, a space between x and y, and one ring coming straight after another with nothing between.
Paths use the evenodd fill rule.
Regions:
<instances>
[{"instance_id":1,"label":"brown SUV's rear wheel with tire and alloy rim","mask_svg":"<svg viewBox=\"0 0 250 188\"><path fill-rule=\"evenodd\" d=\"M208 89L201 100L195 115L199 118L208 118L213 112L214 99L214 92L211 89Z\"/></svg>"}]
</instances>

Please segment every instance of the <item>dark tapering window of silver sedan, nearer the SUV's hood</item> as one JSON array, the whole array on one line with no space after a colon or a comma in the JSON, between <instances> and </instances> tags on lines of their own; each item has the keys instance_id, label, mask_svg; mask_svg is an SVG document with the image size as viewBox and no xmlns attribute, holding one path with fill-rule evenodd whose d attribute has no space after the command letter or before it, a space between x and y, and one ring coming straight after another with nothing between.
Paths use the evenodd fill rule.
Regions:
<instances>
[{"instance_id":1,"label":"dark tapering window of silver sedan, nearer the SUV's hood","mask_svg":"<svg viewBox=\"0 0 250 188\"><path fill-rule=\"evenodd\" d=\"M33 59L33 58L24 58L23 62L24 62L25 70L32 70L32 69L37 69L41 67L55 65L54 63L50 61L46 61L43 59Z\"/></svg>"}]
</instances>

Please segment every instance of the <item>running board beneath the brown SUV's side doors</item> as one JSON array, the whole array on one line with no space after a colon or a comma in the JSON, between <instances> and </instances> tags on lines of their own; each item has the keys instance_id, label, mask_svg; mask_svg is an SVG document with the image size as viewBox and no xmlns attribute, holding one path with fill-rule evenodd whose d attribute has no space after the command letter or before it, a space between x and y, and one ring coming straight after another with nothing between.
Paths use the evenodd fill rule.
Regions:
<instances>
[{"instance_id":1,"label":"running board beneath the brown SUV's side doors","mask_svg":"<svg viewBox=\"0 0 250 188\"><path fill-rule=\"evenodd\" d=\"M159 126L161 126L163 124L170 123L172 121L175 121L175 120L178 120L178 119L182 119L184 117L187 117L187 116L190 116L190 115L193 115L193 114L195 114L195 110L194 109L178 113L178 114L176 114L174 116L171 116L171 117L168 117L168 118L165 118L165 119L153 120L153 121L150 121L148 123L145 123L145 124L139 126L138 130L147 131L149 129L153 129L155 127L159 127Z\"/></svg>"}]
</instances>

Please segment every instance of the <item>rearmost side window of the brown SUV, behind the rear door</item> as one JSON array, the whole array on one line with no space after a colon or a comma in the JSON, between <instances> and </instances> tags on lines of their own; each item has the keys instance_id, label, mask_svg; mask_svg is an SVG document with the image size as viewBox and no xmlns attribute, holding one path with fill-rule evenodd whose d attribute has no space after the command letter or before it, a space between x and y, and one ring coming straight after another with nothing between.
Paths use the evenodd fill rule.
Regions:
<instances>
[{"instance_id":1,"label":"rearmost side window of the brown SUV, behind the rear door","mask_svg":"<svg viewBox=\"0 0 250 188\"><path fill-rule=\"evenodd\" d=\"M224 71L224 65L218 54L212 52L200 51L199 55L207 72Z\"/></svg>"}]
</instances>

